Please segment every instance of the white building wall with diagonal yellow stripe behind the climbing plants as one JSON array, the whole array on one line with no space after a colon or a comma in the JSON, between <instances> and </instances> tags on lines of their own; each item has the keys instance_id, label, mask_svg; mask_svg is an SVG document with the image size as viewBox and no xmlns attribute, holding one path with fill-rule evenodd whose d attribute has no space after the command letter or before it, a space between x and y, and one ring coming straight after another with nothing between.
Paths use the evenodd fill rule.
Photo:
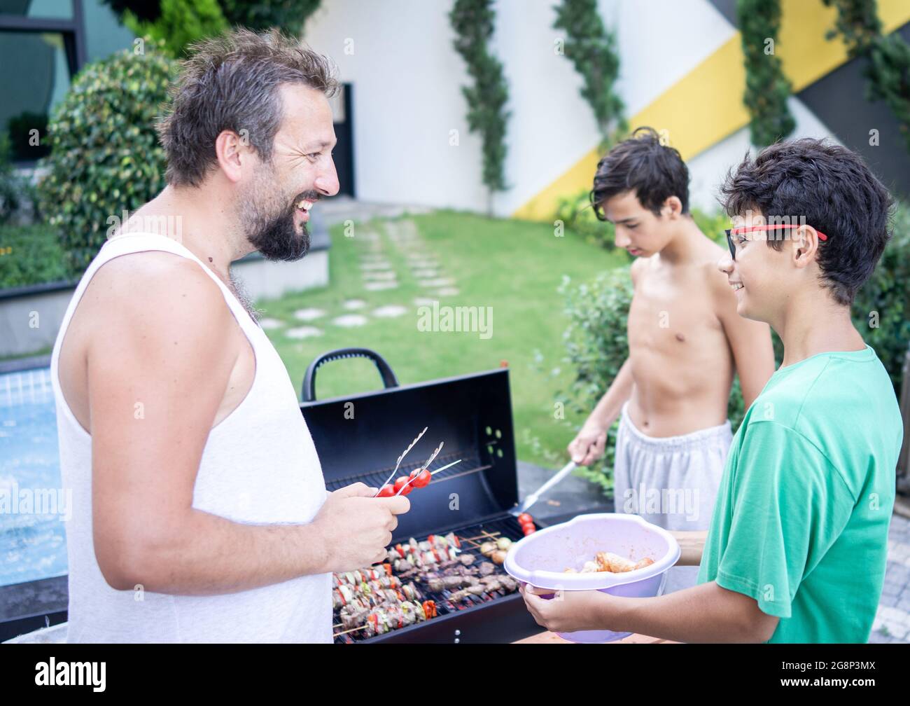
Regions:
<instances>
[{"instance_id":1,"label":"white building wall with diagonal yellow stripe behind the climbing plants","mask_svg":"<svg viewBox=\"0 0 910 706\"><path fill-rule=\"evenodd\" d=\"M490 48L503 63L511 111L505 167L511 189L493 200L501 216L548 219L560 195L590 188L600 157L591 108L579 95L581 77L554 51L561 36L552 28L555 4L499 0L495 5ZM469 79L452 48L451 5L450 0L335 0L306 26L308 43L332 56L341 78L354 87L360 199L487 208L480 138L469 133L464 118L460 87ZM599 9L618 35L618 88L632 127L647 123L667 130L670 143L689 162L693 205L714 210L723 175L749 148L742 51L730 8L716 0L599 0ZM794 91L845 61L843 47L816 51L833 12L820 1L784 0L781 39L789 54L782 58L788 75L795 76ZM891 29L895 21L900 25L910 18L900 19L910 10L895 0L880 0L879 14ZM813 32L806 35L806 27ZM797 120L794 137L836 139L799 97L790 105ZM453 129L458 146L450 145Z\"/></svg>"}]
</instances>

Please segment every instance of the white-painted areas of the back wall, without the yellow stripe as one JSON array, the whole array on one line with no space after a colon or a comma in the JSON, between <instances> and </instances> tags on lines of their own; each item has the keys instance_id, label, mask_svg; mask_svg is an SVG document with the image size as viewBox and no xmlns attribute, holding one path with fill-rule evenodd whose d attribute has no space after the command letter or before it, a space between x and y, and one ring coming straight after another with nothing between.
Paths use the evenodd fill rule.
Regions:
<instances>
[{"instance_id":1,"label":"white-painted areas of the back wall, without the yellow stripe","mask_svg":"<svg viewBox=\"0 0 910 706\"><path fill-rule=\"evenodd\" d=\"M499 0L492 52L509 81L506 180L494 199L509 215L598 142L581 77L555 51L557 0ZM355 188L361 200L484 211L480 138L470 134L460 87L469 77L452 48L451 0L329 0L306 27L310 46L353 83ZM710 56L734 28L709 0L599 0L618 32L619 90L630 117ZM346 48L347 52L346 53ZM731 100L739 100L731 95ZM802 109L800 128L814 134ZM634 126L632 126L634 127ZM459 145L449 144L450 130ZM716 208L726 168L748 131L692 161L693 203ZM743 144L744 140L744 144Z\"/></svg>"}]
</instances>

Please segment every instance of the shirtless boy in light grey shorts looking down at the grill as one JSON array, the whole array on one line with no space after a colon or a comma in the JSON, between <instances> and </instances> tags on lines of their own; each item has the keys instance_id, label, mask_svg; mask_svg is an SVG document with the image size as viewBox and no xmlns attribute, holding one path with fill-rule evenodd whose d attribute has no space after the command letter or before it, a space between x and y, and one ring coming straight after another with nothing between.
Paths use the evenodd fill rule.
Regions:
<instances>
[{"instance_id":1,"label":"shirtless boy in light grey shorts looking down at the grill","mask_svg":"<svg viewBox=\"0 0 910 706\"><path fill-rule=\"evenodd\" d=\"M591 202L632 263L629 357L569 445L583 466L603 455L621 416L613 467L616 512L660 527L707 530L733 440L727 404L739 373L746 408L774 372L768 324L744 319L717 261L723 248L689 214L689 170L652 128L597 166ZM695 584L675 567L665 593Z\"/></svg>"}]
</instances>

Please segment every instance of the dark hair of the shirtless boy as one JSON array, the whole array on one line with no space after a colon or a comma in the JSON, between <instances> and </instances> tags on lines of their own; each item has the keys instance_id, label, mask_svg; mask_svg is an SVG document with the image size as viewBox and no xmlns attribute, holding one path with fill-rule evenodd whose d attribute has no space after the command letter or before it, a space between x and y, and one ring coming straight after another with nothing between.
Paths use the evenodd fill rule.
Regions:
<instances>
[{"instance_id":1,"label":"dark hair of the shirtless boy","mask_svg":"<svg viewBox=\"0 0 910 706\"><path fill-rule=\"evenodd\" d=\"M597 218L607 220L604 201L632 190L655 216L671 196L682 201L683 213L689 212L689 168L676 149L661 144L654 128L636 128L597 163L590 194Z\"/></svg>"}]
</instances>

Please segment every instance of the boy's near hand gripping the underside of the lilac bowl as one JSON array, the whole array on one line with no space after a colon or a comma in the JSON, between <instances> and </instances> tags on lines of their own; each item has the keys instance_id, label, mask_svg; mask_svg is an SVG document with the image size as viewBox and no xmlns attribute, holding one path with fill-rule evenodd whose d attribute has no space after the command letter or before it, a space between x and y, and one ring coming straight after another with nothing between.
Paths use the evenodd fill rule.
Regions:
<instances>
[{"instance_id":1,"label":"boy's near hand gripping the underside of the lilac bowl","mask_svg":"<svg viewBox=\"0 0 910 706\"><path fill-rule=\"evenodd\" d=\"M528 611L541 628L552 632L621 630L612 619L615 619L622 599L609 593L559 590L555 591L552 599L542 599L541 595L553 591L549 588L534 588L530 584L521 584L519 590Z\"/></svg>"}]
</instances>

